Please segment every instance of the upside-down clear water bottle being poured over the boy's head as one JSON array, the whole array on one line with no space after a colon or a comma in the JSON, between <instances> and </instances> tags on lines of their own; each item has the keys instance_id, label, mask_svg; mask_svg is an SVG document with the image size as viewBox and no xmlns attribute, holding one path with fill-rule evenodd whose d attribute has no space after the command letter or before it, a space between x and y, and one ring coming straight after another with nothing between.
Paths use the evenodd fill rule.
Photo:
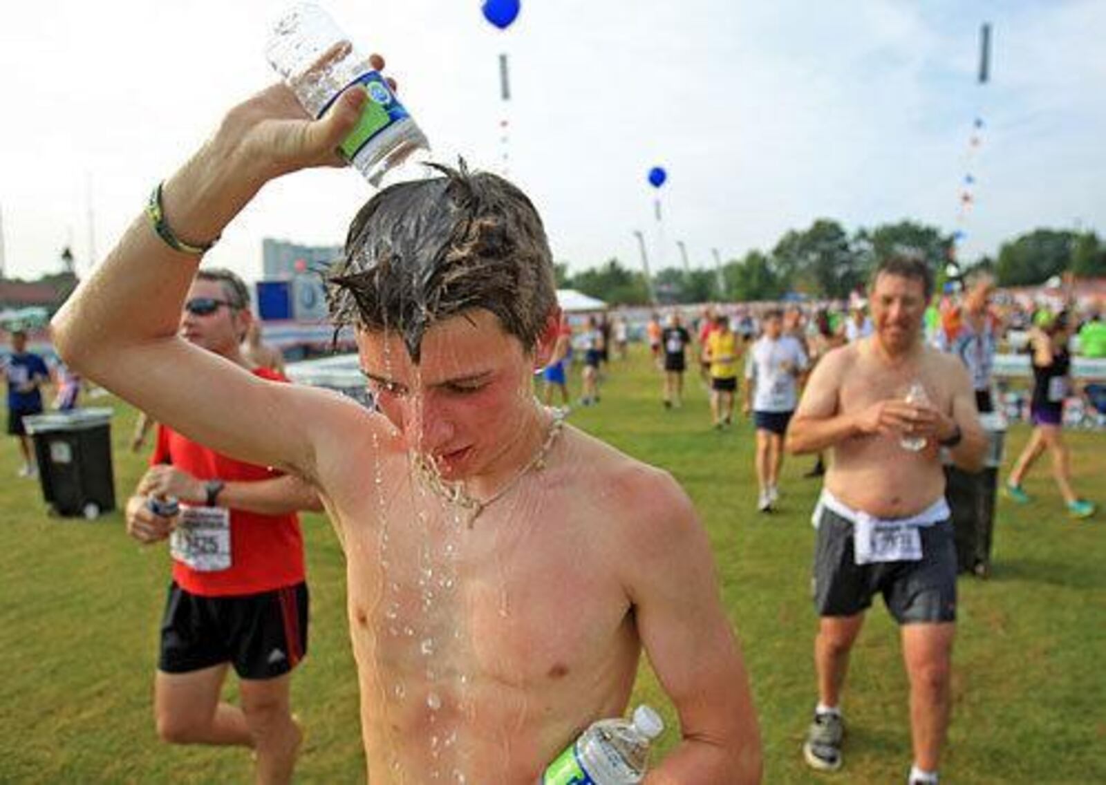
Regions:
<instances>
[{"instance_id":1,"label":"upside-down clear water bottle being poured over the boy's head","mask_svg":"<svg viewBox=\"0 0 1106 785\"><path fill-rule=\"evenodd\" d=\"M368 101L341 149L373 186L411 153L429 148L384 77L319 6L289 9L273 27L265 56L312 117L322 117L347 87L364 85Z\"/></svg>"}]
</instances>

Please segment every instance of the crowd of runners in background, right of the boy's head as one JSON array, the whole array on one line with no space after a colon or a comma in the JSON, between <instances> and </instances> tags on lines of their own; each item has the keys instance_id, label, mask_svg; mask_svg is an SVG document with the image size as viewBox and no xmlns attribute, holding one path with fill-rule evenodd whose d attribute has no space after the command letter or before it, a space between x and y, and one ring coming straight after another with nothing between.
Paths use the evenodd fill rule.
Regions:
<instances>
[{"instance_id":1,"label":"crowd of runners in background, right of the boy's head","mask_svg":"<svg viewBox=\"0 0 1106 785\"><path fill-rule=\"evenodd\" d=\"M544 371L546 404L554 388L571 408L566 368L583 349L583 387L577 401L598 401L614 341L616 358L626 357L627 336L648 344L661 371L661 404L684 406L688 369L709 390L710 425L726 430L738 400L753 418L757 431L757 507L769 512L779 500L782 437L811 370L831 349L873 333L867 299L857 292L847 301L737 303L672 306L653 312L615 311L591 315L574 332L562 323L563 350ZM1077 299L1058 287L1035 295L997 290L988 274L947 286L926 308L925 342L963 362L972 379L981 414L1001 412L1008 420L1034 426L1025 451L1014 462L1005 494L1018 503L1030 496L1022 479L1046 451L1068 512L1094 514L1095 505L1072 489L1063 427L1106 428L1106 367L1086 380L1073 378L1072 358L1106 359L1106 295ZM574 354L575 353L575 354ZM998 373L999 356L1024 356L1027 371ZM695 375L695 374L693 374ZM1020 378L1023 377L1023 378ZM551 384L555 383L555 384ZM825 472L821 454L807 472Z\"/></svg>"}]
</instances>

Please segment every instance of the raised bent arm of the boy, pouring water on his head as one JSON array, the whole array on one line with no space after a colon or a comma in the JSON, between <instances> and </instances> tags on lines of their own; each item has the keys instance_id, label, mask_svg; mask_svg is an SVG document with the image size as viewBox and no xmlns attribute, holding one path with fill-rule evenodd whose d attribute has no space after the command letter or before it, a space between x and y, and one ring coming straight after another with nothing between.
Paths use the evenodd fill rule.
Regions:
<instances>
[{"instance_id":1,"label":"raised bent arm of the boy, pouring water on his head","mask_svg":"<svg viewBox=\"0 0 1106 785\"><path fill-rule=\"evenodd\" d=\"M284 85L234 107L165 182L165 222L179 240L202 245L218 238L269 180L340 165L335 146L356 122L365 97L362 88L348 91L317 122L307 118ZM309 470L307 423L319 398L261 380L177 336L198 262L197 254L170 248L147 214L139 216L54 317L59 355L212 449L253 463Z\"/></svg>"}]
</instances>

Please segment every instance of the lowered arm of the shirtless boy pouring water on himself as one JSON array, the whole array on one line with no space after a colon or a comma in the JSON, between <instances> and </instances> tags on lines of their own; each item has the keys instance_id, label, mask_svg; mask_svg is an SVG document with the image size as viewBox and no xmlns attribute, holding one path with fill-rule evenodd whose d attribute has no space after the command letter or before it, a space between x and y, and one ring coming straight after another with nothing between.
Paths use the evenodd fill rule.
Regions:
<instances>
[{"instance_id":1,"label":"lowered arm of the shirtless boy pouring water on himself","mask_svg":"<svg viewBox=\"0 0 1106 785\"><path fill-rule=\"evenodd\" d=\"M638 631L679 713L681 740L646 783L758 783L760 729L710 545L684 492L656 474L637 494L641 510L625 562Z\"/></svg>"}]
</instances>

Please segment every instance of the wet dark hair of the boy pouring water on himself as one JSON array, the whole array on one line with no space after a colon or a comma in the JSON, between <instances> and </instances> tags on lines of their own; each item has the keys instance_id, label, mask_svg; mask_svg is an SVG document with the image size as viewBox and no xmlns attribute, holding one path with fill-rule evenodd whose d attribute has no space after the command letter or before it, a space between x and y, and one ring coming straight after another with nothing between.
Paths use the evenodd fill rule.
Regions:
<instances>
[{"instance_id":1,"label":"wet dark hair of the boy pouring water on himself","mask_svg":"<svg viewBox=\"0 0 1106 785\"><path fill-rule=\"evenodd\" d=\"M336 328L397 329L419 360L438 321L486 308L531 350L556 307L553 259L530 199L502 177L432 165L362 207L328 279Z\"/></svg>"}]
</instances>

